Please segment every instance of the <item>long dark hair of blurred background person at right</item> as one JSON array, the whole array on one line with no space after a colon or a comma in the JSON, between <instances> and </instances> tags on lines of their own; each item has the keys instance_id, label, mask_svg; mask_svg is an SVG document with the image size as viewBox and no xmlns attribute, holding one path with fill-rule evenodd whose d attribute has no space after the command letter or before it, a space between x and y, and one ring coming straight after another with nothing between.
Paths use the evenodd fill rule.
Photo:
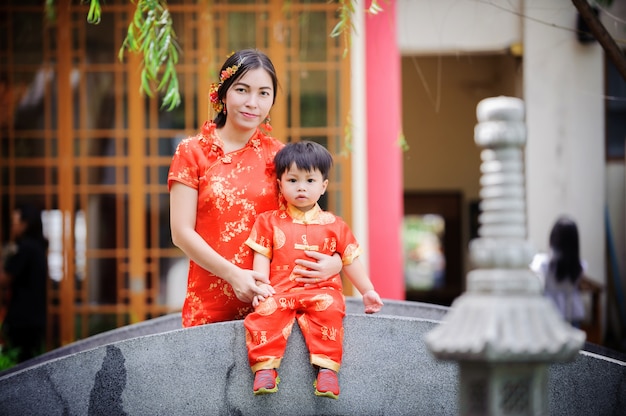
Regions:
<instances>
[{"instance_id":1,"label":"long dark hair of blurred background person at right","mask_svg":"<svg viewBox=\"0 0 626 416\"><path fill-rule=\"evenodd\" d=\"M567 218L560 217L550 232L552 257L548 266L558 282L565 279L576 281L582 272L580 264L578 227Z\"/></svg>"}]
</instances>

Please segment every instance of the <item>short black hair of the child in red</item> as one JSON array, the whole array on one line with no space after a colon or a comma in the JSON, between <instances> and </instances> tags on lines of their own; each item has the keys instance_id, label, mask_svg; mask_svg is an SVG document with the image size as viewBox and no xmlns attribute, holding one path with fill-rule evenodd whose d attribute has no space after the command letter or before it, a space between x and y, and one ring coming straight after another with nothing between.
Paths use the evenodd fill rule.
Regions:
<instances>
[{"instance_id":1,"label":"short black hair of the child in red","mask_svg":"<svg viewBox=\"0 0 626 416\"><path fill-rule=\"evenodd\" d=\"M322 177L328 179L328 172L333 165L333 157L321 144L308 140L287 143L274 157L276 177L280 179L295 163L298 169L308 172L318 169Z\"/></svg>"}]
</instances>

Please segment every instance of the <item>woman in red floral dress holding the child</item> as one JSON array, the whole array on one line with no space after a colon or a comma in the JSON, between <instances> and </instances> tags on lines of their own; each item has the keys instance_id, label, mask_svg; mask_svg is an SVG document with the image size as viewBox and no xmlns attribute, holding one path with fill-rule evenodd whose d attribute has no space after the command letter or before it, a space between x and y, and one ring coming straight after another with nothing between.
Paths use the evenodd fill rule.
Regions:
<instances>
[{"instance_id":1,"label":"woman in red floral dress holding the child","mask_svg":"<svg viewBox=\"0 0 626 416\"><path fill-rule=\"evenodd\" d=\"M183 326L243 319L255 296L271 296L252 270L244 244L258 214L278 207L274 155L283 147L267 135L278 86L262 52L235 52L222 65L210 100L217 115L183 140L168 175L172 241L190 259ZM263 124L265 132L259 128ZM299 281L314 283L341 270L339 256L306 252Z\"/></svg>"}]
</instances>

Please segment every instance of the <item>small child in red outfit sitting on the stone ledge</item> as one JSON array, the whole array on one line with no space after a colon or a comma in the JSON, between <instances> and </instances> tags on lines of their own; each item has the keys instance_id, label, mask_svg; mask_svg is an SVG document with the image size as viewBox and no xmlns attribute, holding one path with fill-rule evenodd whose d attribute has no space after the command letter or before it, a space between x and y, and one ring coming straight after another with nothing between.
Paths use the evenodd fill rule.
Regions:
<instances>
[{"instance_id":1,"label":"small child in red outfit sitting on the stone ledge","mask_svg":"<svg viewBox=\"0 0 626 416\"><path fill-rule=\"evenodd\" d=\"M255 311L244 320L248 360L255 373L254 394L278 391L280 366L294 318L302 330L311 364L319 368L315 394L337 399L337 371L343 353L345 299L341 277L303 285L295 281L294 261L303 250L339 253L343 270L363 295L365 313L383 302L357 258L361 247L347 224L317 204L328 186L332 156L315 142L287 144L274 158L279 191L286 206L260 214L246 241L254 250L254 270L269 275L271 297L256 296ZM261 283L259 283L261 284Z\"/></svg>"}]
</instances>

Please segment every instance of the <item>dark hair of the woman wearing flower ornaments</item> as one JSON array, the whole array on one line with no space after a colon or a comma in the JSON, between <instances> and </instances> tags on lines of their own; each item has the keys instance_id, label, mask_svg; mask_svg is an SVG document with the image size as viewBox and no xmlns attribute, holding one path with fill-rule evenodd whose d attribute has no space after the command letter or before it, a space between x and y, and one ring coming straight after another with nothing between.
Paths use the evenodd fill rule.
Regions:
<instances>
[{"instance_id":1,"label":"dark hair of the woman wearing flower ornaments","mask_svg":"<svg viewBox=\"0 0 626 416\"><path fill-rule=\"evenodd\" d=\"M276 90L278 88L278 77L276 76L276 69L274 69L274 64L270 60L270 58L261 52L258 49L242 49L233 53L231 56L226 59L226 62L222 65L219 73L226 70L226 68L230 68L231 66L236 66L237 71L225 79L222 85L220 85L217 90L217 99L219 101L224 101L226 97L226 92L230 88L233 83L235 83L239 78L241 78L244 74L246 74L251 69L262 68L267 71L267 73L272 78L272 86L274 88L274 98L272 104L276 102ZM217 125L218 128L224 127L226 124L227 114L224 112L218 113L213 122Z\"/></svg>"}]
</instances>

